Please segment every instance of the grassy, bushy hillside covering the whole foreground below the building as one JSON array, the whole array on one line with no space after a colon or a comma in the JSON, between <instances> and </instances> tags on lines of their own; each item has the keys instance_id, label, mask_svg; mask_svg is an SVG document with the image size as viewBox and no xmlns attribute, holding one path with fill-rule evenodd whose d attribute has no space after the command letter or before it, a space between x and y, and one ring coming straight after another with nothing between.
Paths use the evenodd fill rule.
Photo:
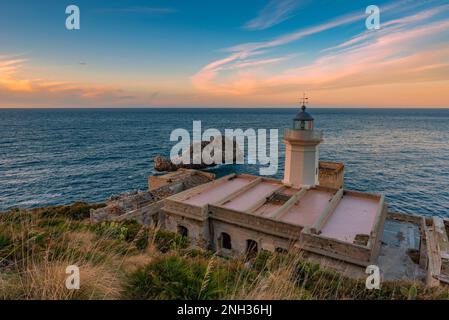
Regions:
<instances>
[{"instance_id":1,"label":"grassy, bushy hillside covering the whole foreground below the building","mask_svg":"<svg viewBox=\"0 0 449 320\"><path fill-rule=\"evenodd\" d=\"M0 299L447 299L445 288L384 282L366 290L304 259L262 251L250 264L189 248L135 222L92 225L75 203L0 214ZM77 265L80 290L65 287Z\"/></svg>"}]
</instances>

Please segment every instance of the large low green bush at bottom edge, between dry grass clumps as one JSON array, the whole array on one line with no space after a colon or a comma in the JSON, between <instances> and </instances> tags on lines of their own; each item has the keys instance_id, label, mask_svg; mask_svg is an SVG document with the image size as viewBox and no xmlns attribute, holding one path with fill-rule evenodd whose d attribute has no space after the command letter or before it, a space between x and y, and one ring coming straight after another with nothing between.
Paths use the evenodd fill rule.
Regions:
<instances>
[{"instance_id":1,"label":"large low green bush at bottom edge, between dry grass clumps","mask_svg":"<svg viewBox=\"0 0 449 320\"><path fill-rule=\"evenodd\" d=\"M129 275L126 298L147 300L210 300L232 297L257 273L236 261L217 256L160 255Z\"/></svg>"}]
</instances>

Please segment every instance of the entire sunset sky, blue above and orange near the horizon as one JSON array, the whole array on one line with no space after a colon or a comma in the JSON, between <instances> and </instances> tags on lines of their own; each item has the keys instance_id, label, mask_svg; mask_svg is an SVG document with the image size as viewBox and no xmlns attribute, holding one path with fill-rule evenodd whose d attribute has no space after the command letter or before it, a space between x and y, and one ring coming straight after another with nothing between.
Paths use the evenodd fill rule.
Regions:
<instances>
[{"instance_id":1,"label":"entire sunset sky, blue above and orange near the horizon","mask_svg":"<svg viewBox=\"0 0 449 320\"><path fill-rule=\"evenodd\" d=\"M449 2L0 2L0 108L293 107L303 92L314 107L449 107Z\"/></svg>"}]
</instances>

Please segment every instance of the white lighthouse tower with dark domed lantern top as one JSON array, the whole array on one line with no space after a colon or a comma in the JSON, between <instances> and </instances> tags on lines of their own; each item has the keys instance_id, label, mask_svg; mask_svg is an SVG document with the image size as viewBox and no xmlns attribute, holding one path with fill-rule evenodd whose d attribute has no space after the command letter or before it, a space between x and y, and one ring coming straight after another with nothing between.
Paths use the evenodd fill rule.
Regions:
<instances>
[{"instance_id":1,"label":"white lighthouse tower with dark domed lantern top","mask_svg":"<svg viewBox=\"0 0 449 320\"><path fill-rule=\"evenodd\" d=\"M293 128L285 129L284 184L292 187L318 185L319 144L322 132L314 130L313 118L306 112L307 99L293 118Z\"/></svg>"}]
</instances>

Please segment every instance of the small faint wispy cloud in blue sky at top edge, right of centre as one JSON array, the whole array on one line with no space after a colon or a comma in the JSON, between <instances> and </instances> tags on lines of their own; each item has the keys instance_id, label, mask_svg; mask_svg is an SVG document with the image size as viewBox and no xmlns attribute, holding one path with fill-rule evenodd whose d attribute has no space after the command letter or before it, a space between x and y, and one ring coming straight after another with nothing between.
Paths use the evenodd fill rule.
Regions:
<instances>
[{"instance_id":1,"label":"small faint wispy cloud in blue sky at top edge, right of centre","mask_svg":"<svg viewBox=\"0 0 449 320\"><path fill-rule=\"evenodd\" d=\"M299 5L299 0L270 0L259 15L243 27L248 30L268 29L290 19Z\"/></svg>"}]
</instances>

